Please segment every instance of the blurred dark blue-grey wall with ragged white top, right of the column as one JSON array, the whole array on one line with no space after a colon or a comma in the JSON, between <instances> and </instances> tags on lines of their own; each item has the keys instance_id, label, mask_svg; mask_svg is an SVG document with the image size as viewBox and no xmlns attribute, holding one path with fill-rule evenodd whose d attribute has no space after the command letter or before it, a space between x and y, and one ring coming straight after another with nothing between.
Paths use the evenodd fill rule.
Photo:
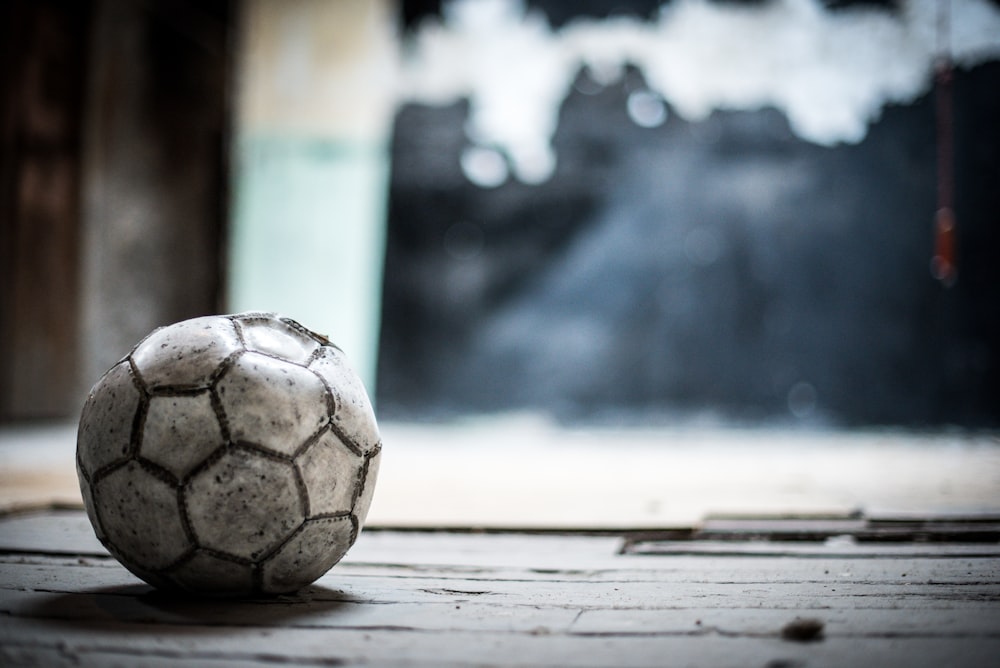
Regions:
<instances>
[{"instance_id":1,"label":"blurred dark blue-grey wall with ragged white top, right of the column","mask_svg":"<svg viewBox=\"0 0 1000 668\"><path fill-rule=\"evenodd\" d=\"M1000 426L1000 62L986 58L954 73L959 279L949 288L929 270L940 130L930 67L940 46L935 5L906 5L925 12L919 23L931 31L904 30L907 48L885 51L867 69L813 56L814 69L800 72L816 45L877 54L886 40L895 44L887 37L894 26L916 21L902 4L824 10L813 3L818 13L806 27L825 21L830 31L812 35L801 57L773 70L776 78L789 70L806 77L797 101L820 115L831 105L814 100L830 95L839 104L844 91L863 91L869 74L916 76L910 93L897 84L877 90L887 101L862 119L855 140L807 140L788 115L752 100L693 117L651 90L644 71L609 78L577 64L565 99L556 98L552 174L526 180L509 150L522 141L517 128L482 133L497 118L494 107L517 99L520 79L498 81L508 86L499 96L483 90L489 78L467 74L468 61L476 45L502 56L522 39L519 49L548 61L507 53L496 76L508 64L533 76L572 47L568 37L560 41L561 26L572 28L585 13L604 19L611 3L602 4L603 15L601 3L583 4L562 11L563 3L539 0L522 18L516 3L513 13L497 9L511 3L492 3L495 20L480 21L471 15L479 6L466 3L468 14L446 7L445 21L433 11L412 18L414 67L424 69L414 77L422 88L396 117L383 414L532 410L567 421ZM625 4L645 21L659 5ZM792 5L807 7L779 10ZM683 3L700 7L702 17L753 19L762 49L803 34L789 32L779 13L761 13L774 6ZM966 41L954 44L982 56L970 30L986 19L996 24L996 3L953 6L985 12L964 28L956 21L955 35ZM871 24L882 42L872 41ZM606 26L609 40L618 39L615 25ZM514 32L498 36L497 26ZM733 43L706 42L705 34L669 33L693 50L687 60L658 62L692 87L687 99L725 82L707 79L709 72L680 76L704 71L715 57L724 64ZM440 57L463 44L468 59ZM435 78L420 58L465 69L433 69Z\"/></svg>"}]
</instances>

